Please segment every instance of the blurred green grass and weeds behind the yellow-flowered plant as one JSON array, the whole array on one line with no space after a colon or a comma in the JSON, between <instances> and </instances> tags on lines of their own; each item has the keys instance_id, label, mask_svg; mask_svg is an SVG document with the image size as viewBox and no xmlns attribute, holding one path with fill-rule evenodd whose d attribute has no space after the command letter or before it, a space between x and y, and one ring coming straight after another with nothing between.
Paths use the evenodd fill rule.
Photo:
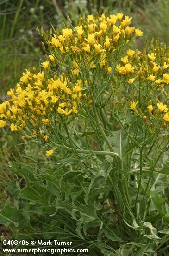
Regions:
<instances>
[{"instance_id":1,"label":"blurred green grass and weeds behind the yellow-flowered plant","mask_svg":"<svg viewBox=\"0 0 169 256\"><path fill-rule=\"evenodd\" d=\"M25 68L38 68L39 59L44 58L37 26L44 30L49 30L51 23L61 27L67 15L75 24L79 13L96 12L132 16L133 26L144 31L144 38L136 42L138 48L144 47L145 38L169 42L169 0L0 0L0 101L15 87ZM32 162L31 155L36 155L34 160L43 159L38 148L25 146L18 135L0 129L0 209L11 195L9 190L4 192L6 182L14 179L7 165L14 156ZM7 232L0 226L0 232L10 236L13 230Z\"/></svg>"}]
</instances>

